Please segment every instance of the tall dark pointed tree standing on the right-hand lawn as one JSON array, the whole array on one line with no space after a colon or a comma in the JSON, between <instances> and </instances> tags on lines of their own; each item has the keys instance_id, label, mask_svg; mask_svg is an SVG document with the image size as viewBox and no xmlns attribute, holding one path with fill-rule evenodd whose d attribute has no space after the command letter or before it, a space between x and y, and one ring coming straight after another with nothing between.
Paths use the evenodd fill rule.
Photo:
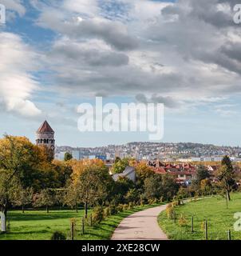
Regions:
<instances>
[{"instance_id":1,"label":"tall dark pointed tree standing on the right-hand lawn","mask_svg":"<svg viewBox=\"0 0 241 256\"><path fill-rule=\"evenodd\" d=\"M224 190L226 191L227 201L230 201L230 192L235 187L234 169L231 164L230 158L226 155L223 157L221 166L217 172L217 178L221 182Z\"/></svg>"}]
</instances>

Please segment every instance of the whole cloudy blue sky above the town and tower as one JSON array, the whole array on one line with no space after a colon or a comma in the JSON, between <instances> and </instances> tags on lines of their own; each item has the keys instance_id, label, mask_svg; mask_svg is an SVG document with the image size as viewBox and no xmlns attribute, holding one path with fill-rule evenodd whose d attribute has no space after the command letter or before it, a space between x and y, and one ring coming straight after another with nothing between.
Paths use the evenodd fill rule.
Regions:
<instances>
[{"instance_id":1,"label":"whole cloudy blue sky above the town and tower","mask_svg":"<svg viewBox=\"0 0 241 256\"><path fill-rule=\"evenodd\" d=\"M0 134L57 146L148 141L80 132L77 106L164 103L160 142L241 146L241 25L235 0L0 0Z\"/></svg>"}]
</instances>

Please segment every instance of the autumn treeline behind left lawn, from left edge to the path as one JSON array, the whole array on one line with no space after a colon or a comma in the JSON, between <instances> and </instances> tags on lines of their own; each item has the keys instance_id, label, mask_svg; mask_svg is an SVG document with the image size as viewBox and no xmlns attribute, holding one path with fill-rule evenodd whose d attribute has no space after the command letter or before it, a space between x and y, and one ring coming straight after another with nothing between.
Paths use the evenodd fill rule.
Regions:
<instances>
[{"instance_id":1,"label":"autumn treeline behind left lawn, from left edge to the path","mask_svg":"<svg viewBox=\"0 0 241 256\"><path fill-rule=\"evenodd\" d=\"M115 182L109 168L98 159L53 160L51 152L35 146L27 138L6 135L0 139L0 210L2 231L12 207L85 206L117 207L121 204L144 204L171 200L178 190L171 176L155 174L144 163L117 159L113 173L135 164L136 182L119 178ZM108 209L108 208L107 208ZM111 208L113 209L113 208Z\"/></svg>"}]
</instances>

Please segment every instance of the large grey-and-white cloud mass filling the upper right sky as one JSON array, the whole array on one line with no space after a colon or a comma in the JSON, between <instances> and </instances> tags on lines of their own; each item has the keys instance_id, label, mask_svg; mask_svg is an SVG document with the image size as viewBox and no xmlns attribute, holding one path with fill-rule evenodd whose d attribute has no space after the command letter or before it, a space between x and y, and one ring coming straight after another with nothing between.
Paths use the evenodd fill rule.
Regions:
<instances>
[{"instance_id":1,"label":"large grey-and-white cloud mass filling the upper right sky","mask_svg":"<svg viewBox=\"0 0 241 256\"><path fill-rule=\"evenodd\" d=\"M241 92L230 1L49 1L40 11L38 24L58 34L49 69L69 94L196 106Z\"/></svg>"}]
</instances>

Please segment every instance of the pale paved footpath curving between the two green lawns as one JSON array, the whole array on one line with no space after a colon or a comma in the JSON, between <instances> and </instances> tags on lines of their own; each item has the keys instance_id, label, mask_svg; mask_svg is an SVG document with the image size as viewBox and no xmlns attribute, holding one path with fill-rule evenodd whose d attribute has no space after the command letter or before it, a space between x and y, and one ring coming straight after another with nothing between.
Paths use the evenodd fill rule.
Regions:
<instances>
[{"instance_id":1,"label":"pale paved footpath curving between the two green lawns","mask_svg":"<svg viewBox=\"0 0 241 256\"><path fill-rule=\"evenodd\" d=\"M157 223L157 216L165 209L166 206L157 206L124 218L112 240L168 240Z\"/></svg>"}]
</instances>

